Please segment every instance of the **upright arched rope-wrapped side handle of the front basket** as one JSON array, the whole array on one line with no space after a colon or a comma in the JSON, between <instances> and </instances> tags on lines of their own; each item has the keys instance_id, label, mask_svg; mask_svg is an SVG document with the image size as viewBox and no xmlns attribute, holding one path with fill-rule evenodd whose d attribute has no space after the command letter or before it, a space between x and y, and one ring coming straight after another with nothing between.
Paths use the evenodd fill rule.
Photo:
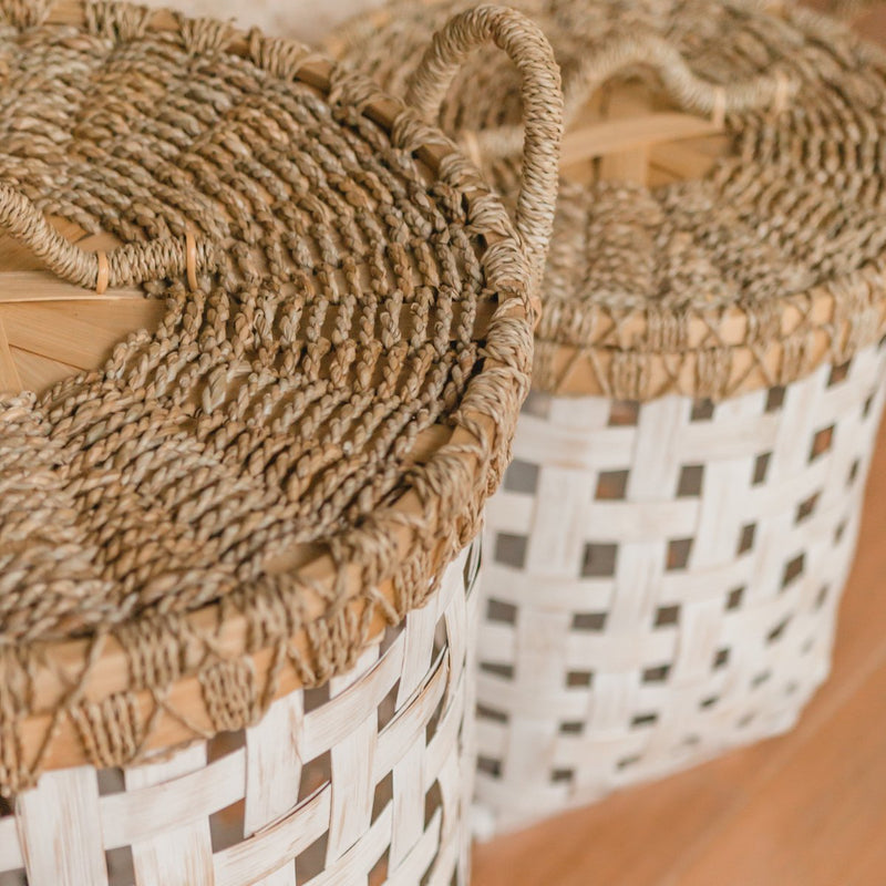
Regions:
<instances>
[{"instance_id":1,"label":"upright arched rope-wrapped side handle of the front basket","mask_svg":"<svg viewBox=\"0 0 886 886\"><path fill-rule=\"evenodd\" d=\"M474 49L490 41L522 74L523 182L515 223L533 279L540 280L557 200L563 93L554 51L538 25L505 7L481 6L455 16L434 35L412 74L406 102L435 123L459 69Z\"/></svg>"}]
</instances>

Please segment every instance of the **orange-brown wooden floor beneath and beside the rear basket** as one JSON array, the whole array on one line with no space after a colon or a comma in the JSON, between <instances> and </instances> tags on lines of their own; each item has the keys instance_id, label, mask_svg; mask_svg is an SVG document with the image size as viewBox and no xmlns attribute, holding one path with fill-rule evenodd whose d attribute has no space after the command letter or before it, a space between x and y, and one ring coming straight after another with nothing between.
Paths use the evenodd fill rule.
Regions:
<instances>
[{"instance_id":1,"label":"orange-brown wooden floor beneath and beside the rear basket","mask_svg":"<svg viewBox=\"0 0 886 886\"><path fill-rule=\"evenodd\" d=\"M886 42L883 12L859 25ZM886 886L886 425L833 676L794 732L474 856L474 886Z\"/></svg>"}]
</instances>

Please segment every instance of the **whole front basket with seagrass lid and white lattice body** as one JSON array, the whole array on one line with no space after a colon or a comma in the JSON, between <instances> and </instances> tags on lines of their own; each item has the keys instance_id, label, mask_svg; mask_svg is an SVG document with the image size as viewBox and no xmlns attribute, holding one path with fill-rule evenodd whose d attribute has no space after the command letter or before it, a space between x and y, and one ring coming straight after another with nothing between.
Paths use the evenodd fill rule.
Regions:
<instances>
[{"instance_id":1,"label":"whole front basket with seagrass lid and white lattice body","mask_svg":"<svg viewBox=\"0 0 886 886\"><path fill-rule=\"evenodd\" d=\"M562 112L495 7L421 106L490 39L525 83L516 226L306 47L0 0L3 886L465 882L464 552Z\"/></svg>"}]
</instances>

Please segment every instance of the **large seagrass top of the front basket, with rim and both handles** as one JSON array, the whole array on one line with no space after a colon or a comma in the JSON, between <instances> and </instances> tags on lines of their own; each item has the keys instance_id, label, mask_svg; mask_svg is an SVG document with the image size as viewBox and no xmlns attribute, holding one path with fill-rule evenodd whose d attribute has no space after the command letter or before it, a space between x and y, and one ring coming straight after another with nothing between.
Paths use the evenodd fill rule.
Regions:
<instances>
[{"instance_id":1,"label":"large seagrass top of the front basket, with rim and both handles","mask_svg":"<svg viewBox=\"0 0 886 886\"><path fill-rule=\"evenodd\" d=\"M550 49L516 226L452 142L307 48L0 0L0 789L254 722L421 606L528 390ZM92 291L90 291L92 290Z\"/></svg>"}]
</instances>

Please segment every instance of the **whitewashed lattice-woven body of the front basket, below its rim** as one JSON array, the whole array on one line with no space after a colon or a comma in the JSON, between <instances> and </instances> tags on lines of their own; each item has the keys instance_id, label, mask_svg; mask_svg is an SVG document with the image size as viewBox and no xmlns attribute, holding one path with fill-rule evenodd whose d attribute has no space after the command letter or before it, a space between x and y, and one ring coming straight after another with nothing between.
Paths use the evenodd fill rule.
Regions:
<instances>
[{"instance_id":1,"label":"whitewashed lattice-woven body of the front basket, below its rim","mask_svg":"<svg viewBox=\"0 0 886 886\"><path fill-rule=\"evenodd\" d=\"M476 568L465 552L350 671L245 732L47 773L0 817L0 883L466 884Z\"/></svg>"}]
</instances>

